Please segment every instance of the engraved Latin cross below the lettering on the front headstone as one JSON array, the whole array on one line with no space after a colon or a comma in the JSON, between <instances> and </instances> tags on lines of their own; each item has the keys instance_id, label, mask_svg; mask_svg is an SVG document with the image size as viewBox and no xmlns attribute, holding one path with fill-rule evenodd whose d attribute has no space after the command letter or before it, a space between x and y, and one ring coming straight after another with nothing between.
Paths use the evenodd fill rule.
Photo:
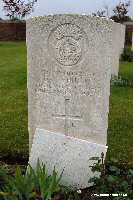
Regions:
<instances>
[{"instance_id":1,"label":"engraved Latin cross below the lettering on the front headstone","mask_svg":"<svg viewBox=\"0 0 133 200\"><path fill-rule=\"evenodd\" d=\"M75 115L75 116L69 115L68 106L69 106L69 98L65 97L65 114L64 115L53 115L53 117L65 119L65 135L66 136L68 136L68 128L69 128L68 120L69 119L79 120L82 118L82 116L79 116L79 115Z\"/></svg>"}]
</instances>

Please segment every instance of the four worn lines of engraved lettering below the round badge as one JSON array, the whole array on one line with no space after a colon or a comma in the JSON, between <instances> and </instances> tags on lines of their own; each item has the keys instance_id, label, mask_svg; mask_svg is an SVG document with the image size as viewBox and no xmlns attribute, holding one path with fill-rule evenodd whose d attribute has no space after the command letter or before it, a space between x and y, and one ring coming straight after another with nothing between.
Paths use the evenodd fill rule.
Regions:
<instances>
[{"instance_id":1,"label":"four worn lines of engraved lettering below the round badge","mask_svg":"<svg viewBox=\"0 0 133 200\"><path fill-rule=\"evenodd\" d=\"M95 85L95 76L95 73L82 71L43 70L35 91L49 95L91 96L93 92L99 92L99 86Z\"/></svg>"}]
</instances>

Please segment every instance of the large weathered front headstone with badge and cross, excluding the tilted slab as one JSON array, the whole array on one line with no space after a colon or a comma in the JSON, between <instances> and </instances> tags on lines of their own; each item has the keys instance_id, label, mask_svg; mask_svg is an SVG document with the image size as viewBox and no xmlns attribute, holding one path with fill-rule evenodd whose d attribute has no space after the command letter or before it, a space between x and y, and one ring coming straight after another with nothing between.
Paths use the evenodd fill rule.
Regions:
<instances>
[{"instance_id":1,"label":"large weathered front headstone with badge and cross, excluding the tilted slab","mask_svg":"<svg viewBox=\"0 0 133 200\"><path fill-rule=\"evenodd\" d=\"M28 122L107 144L114 22L86 15L27 20Z\"/></svg>"}]
</instances>

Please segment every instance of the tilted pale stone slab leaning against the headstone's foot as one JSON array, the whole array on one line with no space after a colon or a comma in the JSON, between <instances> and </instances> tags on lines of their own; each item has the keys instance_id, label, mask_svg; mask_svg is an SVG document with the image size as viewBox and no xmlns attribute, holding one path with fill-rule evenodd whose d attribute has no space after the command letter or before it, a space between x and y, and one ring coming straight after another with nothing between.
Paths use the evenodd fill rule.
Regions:
<instances>
[{"instance_id":1,"label":"tilted pale stone slab leaning against the headstone's foot","mask_svg":"<svg viewBox=\"0 0 133 200\"><path fill-rule=\"evenodd\" d=\"M107 146L77 139L58 133L36 129L29 163L36 170L38 159L47 163L47 173L52 175L54 166L58 175L64 169L61 184L81 189L91 186L88 180L100 173L93 173L91 167L97 161L92 157L106 155Z\"/></svg>"}]
</instances>

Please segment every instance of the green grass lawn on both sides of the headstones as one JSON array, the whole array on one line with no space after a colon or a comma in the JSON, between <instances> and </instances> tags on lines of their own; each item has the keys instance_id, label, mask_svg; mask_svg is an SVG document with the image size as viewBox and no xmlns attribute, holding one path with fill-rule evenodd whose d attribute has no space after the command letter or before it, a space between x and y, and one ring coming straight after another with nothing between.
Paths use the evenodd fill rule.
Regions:
<instances>
[{"instance_id":1,"label":"green grass lawn on both sides of the headstones","mask_svg":"<svg viewBox=\"0 0 133 200\"><path fill-rule=\"evenodd\" d=\"M120 63L133 82L133 64ZM28 101L25 42L0 42L0 155L28 159ZM109 156L133 165L133 88L111 87Z\"/></svg>"}]
</instances>

